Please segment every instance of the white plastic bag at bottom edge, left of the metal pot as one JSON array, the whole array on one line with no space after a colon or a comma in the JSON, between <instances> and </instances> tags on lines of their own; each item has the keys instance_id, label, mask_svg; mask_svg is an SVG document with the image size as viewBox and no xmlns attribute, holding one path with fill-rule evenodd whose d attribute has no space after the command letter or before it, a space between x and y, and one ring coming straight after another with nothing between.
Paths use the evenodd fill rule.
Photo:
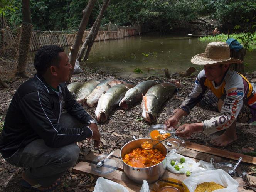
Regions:
<instances>
[{"instance_id":1,"label":"white plastic bag at bottom edge, left of the metal pot","mask_svg":"<svg viewBox=\"0 0 256 192\"><path fill-rule=\"evenodd\" d=\"M123 185L99 177L94 187L94 192L129 192Z\"/></svg>"}]
</instances>

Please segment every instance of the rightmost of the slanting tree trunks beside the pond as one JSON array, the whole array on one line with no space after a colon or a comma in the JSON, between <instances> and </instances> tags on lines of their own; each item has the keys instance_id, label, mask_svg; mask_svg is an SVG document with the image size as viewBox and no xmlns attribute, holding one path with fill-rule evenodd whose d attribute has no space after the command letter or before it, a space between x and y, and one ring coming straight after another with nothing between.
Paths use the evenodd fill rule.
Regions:
<instances>
[{"instance_id":1,"label":"rightmost of the slanting tree trunks beside the pond","mask_svg":"<svg viewBox=\"0 0 256 192\"><path fill-rule=\"evenodd\" d=\"M90 53L90 51L91 51L91 47L93 46L94 40L95 40L95 38L96 38L96 36L97 36L97 34L98 34L98 30L99 30L99 26L100 26L100 23L101 23L101 19L102 19L102 17L103 17L103 14L104 14L106 8L108 7L109 2L110 2L110 0L104 0L104 2L103 2L103 5L102 5L102 7L101 7L101 11L99 12L99 15L98 15L98 17L97 17L98 21L97 21L95 30L94 30L94 32L93 32L93 38L92 38L92 40L91 40L91 41L88 43L88 45L87 45L86 54L85 54L85 56L84 56L84 58L83 58L84 61L86 61L86 59L88 59L89 53ZM95 21L95 22L96 22L96 21ZM94 22L94 24L95 24L95 22ZM93 24L93 25L94 25L94 24Z\"/></svg>"}]
</instances>

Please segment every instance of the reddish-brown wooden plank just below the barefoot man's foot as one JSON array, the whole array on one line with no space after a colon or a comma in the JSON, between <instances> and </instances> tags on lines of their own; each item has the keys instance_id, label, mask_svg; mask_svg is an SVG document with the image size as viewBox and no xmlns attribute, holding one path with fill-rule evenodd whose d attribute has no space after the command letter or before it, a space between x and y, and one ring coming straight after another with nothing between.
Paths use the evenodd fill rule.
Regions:
<instances>
[{"instance_id":1,"label":"reddish-brown wooden plank just below the barefoot man's foot","mask_svg":"<svg viewBox=\"0 0 256 192\"><path fill-rule=\"evenodd\" d=\"M211 155L217 155L217 156L220 156L220 157L230 158L230 159L234 159L234 160L238 160L239 157L242 157L243 162L252 163L252 164L256 165L256 157L252 157L252 156L249 156L249 155L229 152L229 151L218 149L218 148L199 145L199 144L192 143L192 142L189 142L189 141L186 141L186 147L185 148L192 149L192 150L199 151L199 152L208 153L208 154L211 154Z\"/></svg>"}]
</instances>

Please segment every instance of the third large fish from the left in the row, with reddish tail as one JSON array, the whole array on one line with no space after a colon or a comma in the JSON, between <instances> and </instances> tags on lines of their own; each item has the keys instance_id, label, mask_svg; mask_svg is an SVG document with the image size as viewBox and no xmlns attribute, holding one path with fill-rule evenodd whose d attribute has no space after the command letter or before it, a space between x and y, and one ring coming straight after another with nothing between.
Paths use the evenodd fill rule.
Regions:
<instances>
[{"instance_id":1,"label":"third large fish from the left in the row, with reddish tail","mask_svg":"<svg viewBox=\"0 0 256 192\"><path fill-rule=\"evenodd\" d=\"M121 84L121 83L122 81L119 81L118 79L106 79L104 81L101 81L101 83L99 83L93 89L91 94L89 94L88 97L86 98L86 104L89 107L95 106L98 103L99 98L103 93L106 93L106 91L108 91L108 89L111 88L112 86L116 84Z\"/></svg>"}]
</instances>

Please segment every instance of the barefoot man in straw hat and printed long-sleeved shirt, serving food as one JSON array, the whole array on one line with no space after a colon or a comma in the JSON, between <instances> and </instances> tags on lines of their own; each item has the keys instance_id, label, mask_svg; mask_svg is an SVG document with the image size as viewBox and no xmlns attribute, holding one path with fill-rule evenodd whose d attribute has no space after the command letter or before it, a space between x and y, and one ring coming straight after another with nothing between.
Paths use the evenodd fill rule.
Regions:
<instances>
[{"instance_id":1,"label":"barefoot man in straw hat and printed long-sleeved shirt, serving food","mask_svg":"<svg viewBox=\"0 0 256 192\"><path fill-rule=\"evenodd\" d=\"M182 102L179 110L168 118L165 125L167 128L176 128L180 118L188 115L198 104L204 109L220 114L200 123L181 125L176 128L176 134L189 137L196 132L210 135L226 130L212 140L216 146L226 146L237 139L236 122L250 123L256 120L254 88L243 75L229 69L231 63L241 64L242 61L230 58L229 45L224 42L209 43L205 52L192 57L191 62L203 65L204 69L198 74L188 98Z\"/></svg>"}]
</instances>

